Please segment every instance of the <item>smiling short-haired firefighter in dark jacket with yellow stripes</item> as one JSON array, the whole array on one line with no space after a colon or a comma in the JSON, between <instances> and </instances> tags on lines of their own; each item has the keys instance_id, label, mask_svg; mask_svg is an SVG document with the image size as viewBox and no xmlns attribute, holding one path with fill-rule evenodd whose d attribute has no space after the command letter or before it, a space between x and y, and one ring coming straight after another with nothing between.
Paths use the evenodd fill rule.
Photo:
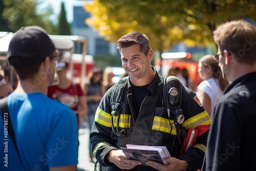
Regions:
<instances>
[{"instance_id":1,"label":"smiling short-haired firefighter in dark jacket with yellow stripes","mask_svg":"<svg viewBox=\"0 0 256 171\"><path fill-rule=\"evenodd\" d=\"M202 165L208 129L201 134L196 145L180 157L180 133L198 125L211 123L196 94L182 89L181 108L185 120L176 127L175 114L168 117L164 104L164 78L151 66L154 56L146 35L131 32L117 41L122 66L129 75L125 82L116 84L103 96L96 111L90 134L93 154L102 170L197 170ZM175 78L178 80L177 78ZM115 89L123 92L117 103L112 101ZM180 91L180 90L179 90ZM117 104L120 110L116 110ZM114 108L113 108L114 106ZM183 115L182 115L183 116ZM181 117L182 118L182 117ZM193 118L193 119L192 119ZM177 130L177 129L178 130ZM165 158L168 165L127 159L120 149L126 144L166 146L172 157Z\"/></svg>"}]
</instances>

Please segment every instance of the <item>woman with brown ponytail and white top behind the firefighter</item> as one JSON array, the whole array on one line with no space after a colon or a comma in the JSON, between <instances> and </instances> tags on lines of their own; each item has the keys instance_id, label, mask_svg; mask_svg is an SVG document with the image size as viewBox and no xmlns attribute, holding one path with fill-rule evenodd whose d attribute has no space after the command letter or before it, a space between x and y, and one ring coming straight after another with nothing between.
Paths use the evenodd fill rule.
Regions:
<instances>
[{"instance_id":1,"label":"woman with brown ponytail and white top behind the firefighter","mask_svg":"<svg viewBox=\"0 0 256 171\"><path fill-rule=\"evenodd\" d=\"M219 63L214 55L203 56L198 63L199 77L203 80L197 87L197 96L211 116L214 106L229 82L222 77Z\"/></svg>"}]
</instances>

